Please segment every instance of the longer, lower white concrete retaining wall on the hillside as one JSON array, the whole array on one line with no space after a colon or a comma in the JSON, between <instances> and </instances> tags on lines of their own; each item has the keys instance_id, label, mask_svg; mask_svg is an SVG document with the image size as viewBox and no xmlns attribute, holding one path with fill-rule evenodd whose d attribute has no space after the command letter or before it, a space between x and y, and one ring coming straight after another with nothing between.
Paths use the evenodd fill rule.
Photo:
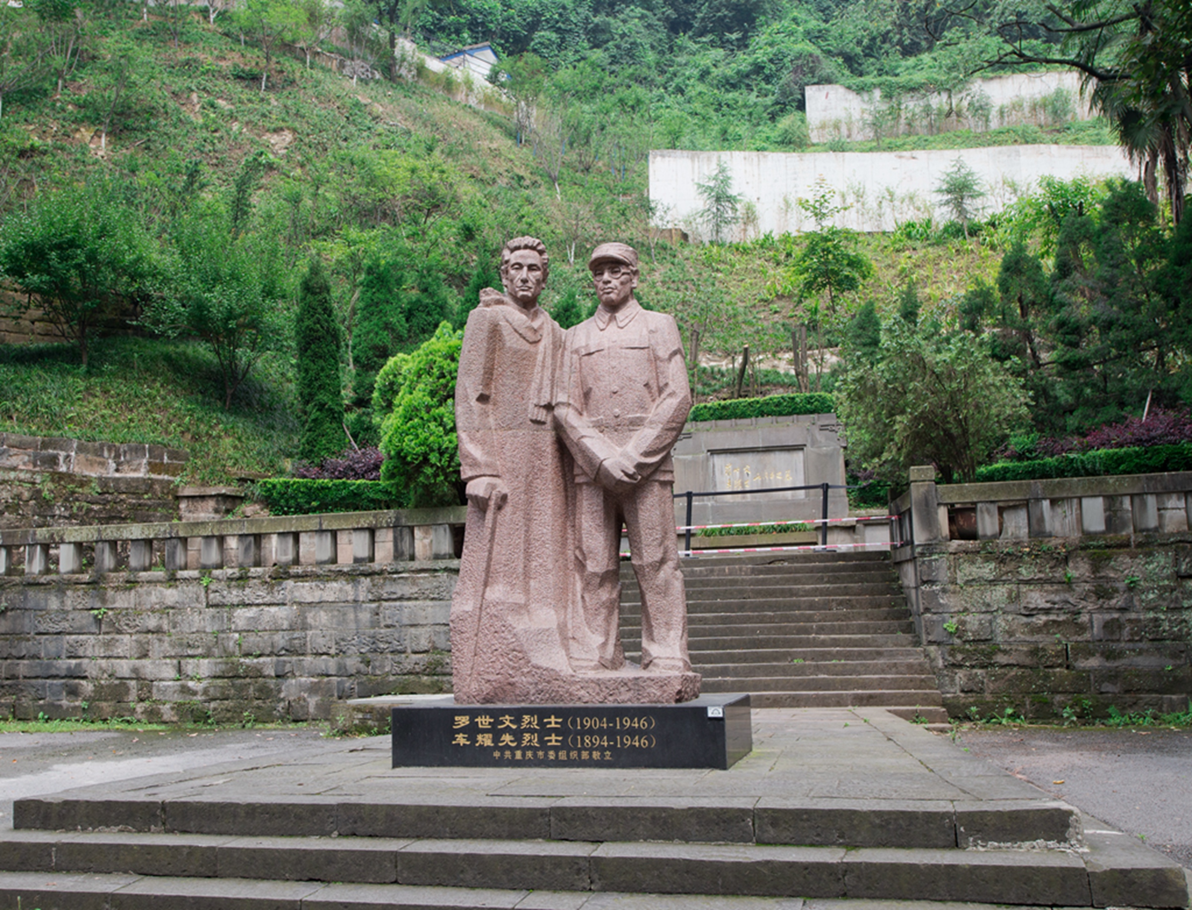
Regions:
<instances>
[{"instance_id":1,"label":"longer, lower white concrete retaining wall on the hillside","mask_svg":"<svg viewBox=\"0 0 1192 910\"><path fill-rule=\"evenodd\" d=\"M1039 177L1137 177L1137 168L1116 145L998 145L940 151L776 152L679 151L650 152L650 201L659 228L681 226L707 239L699 212L704 202L697 183L706 183L724 161L733 175L732 188L756 218L744 218L726 239L750 239L771 232L795 233L814 226L799 207L822 180L849 206L836 218L842 228L892 231L900 223L949 219L936 187L956 158L980 176L986 198L983 214L1001 211L1031 191Z\"/></svg>"}]
</instances>

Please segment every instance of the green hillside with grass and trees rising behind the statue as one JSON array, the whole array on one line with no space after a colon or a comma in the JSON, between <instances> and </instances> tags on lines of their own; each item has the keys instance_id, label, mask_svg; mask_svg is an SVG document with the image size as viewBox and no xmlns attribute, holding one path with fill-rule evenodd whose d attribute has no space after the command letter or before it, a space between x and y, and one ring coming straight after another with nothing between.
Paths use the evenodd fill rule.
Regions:
<instances>
[{"instance_id":1,"label":"green hillside with grass and trees rising behind the statue","mask_svg":"<svg viewBox=\"0 0 1192 910\"><path fill-rule=\"evenodd\" d=\"M699 330L700 351L726 363L745 344L755 362L789 357L796 324L834 347L856 335L851 320L867 304L883 318L911 306L952 324L974 287L993 287L1016 236L1048 253L1051 230L1054 248L1055 225L1030 220L1038 205L999 223L704 247L650 226L651 148L802 147L812 82L894 94L963 85L983 39L951 20L956 40L917 37L902 7L457 0L403 6L398 23L385 12L397 6L358 2L341 23L355 15L356 31L315 39L302 23L329 14L317 0L254 0L213 24L207 8L185 5L0 6L6 281L57 287L38 263L68 258L62 238L89 269L83 291L62 298L80 317L67 343L0 348L0 429L181 445L193 479L286 470L300 428L293 314L318 257L343 331L346 428L375 442L378 369L441 320L461 325L479 289L498 281L501 244L522 233L547 243L544 304L560 319L594 304L586 251L625 239L642 254L642 301L673 313L685 342ZM374 15L379 29L368 27ZM493 40L510 95L471 107L457 100L466 80L410 60L393 77L353 81L293 44L384 71L389 32L403 29L434 50ZM538 111L533 130L519 117L526 104ZM1095 123L1031 129L977 141L1110 137ZM822 241L870 264L824 291L808 278ZM5 299L10 310L29 300ZM732 384L731 370L708 369L697 391L724 395ZM787 384L750 378L759 392Z\"/></svg>"}]
</instances>

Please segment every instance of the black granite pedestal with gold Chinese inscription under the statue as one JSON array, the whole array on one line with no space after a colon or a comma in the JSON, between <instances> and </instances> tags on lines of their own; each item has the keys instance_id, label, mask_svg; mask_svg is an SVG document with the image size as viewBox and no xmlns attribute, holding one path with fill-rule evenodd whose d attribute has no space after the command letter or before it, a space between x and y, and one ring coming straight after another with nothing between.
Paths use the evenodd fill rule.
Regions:
<instances>
[{"instance_id":1,"label":"black granite pedestal with gold Chinese inscription under the statue","mask_svg":"<svg viewBox=\"0 0 1192 910\"><path fill-rule=\"evenodd\" d=\"M393 767L721 768L753 748L747 694L657 705L393 709Z\"/></svg>"}]
</instances>

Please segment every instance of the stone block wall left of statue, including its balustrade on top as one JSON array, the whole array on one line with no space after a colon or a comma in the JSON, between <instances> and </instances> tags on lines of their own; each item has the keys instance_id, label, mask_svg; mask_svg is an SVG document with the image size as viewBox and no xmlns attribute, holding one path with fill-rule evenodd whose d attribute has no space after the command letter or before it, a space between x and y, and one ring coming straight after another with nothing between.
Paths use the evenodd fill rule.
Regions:
<instances>
[{"instance_id":1,"label":"stone block wall left of statue, including its balustrade on top","mask_svg":"<svg viewBox=\"0 0 1192 910\"><path fill-rule=\"evenodd\" d=\"M465 513L0 531L0 716L329 718L443 691Z\"/></svg>"}]
</instances>

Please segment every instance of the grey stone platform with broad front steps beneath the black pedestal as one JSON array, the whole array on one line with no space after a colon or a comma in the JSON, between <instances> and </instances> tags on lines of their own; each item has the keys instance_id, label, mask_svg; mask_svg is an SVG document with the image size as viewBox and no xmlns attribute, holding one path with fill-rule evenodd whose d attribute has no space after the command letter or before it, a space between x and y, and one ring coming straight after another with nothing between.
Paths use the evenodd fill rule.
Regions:
<instances>
[{"instance_id":1,"label":"grey stone platform with broad front steps beneath the black pedestal","mask_svg":"<svg viewBox=\"0 0 1192 910\"><path fill-rule=\"evenodd\" d=\"M1187 905L1169 859L883 711L756 725L728 772L390 769L375 737L18 799L0 908Z\"/></svg>"}]
</instances>

